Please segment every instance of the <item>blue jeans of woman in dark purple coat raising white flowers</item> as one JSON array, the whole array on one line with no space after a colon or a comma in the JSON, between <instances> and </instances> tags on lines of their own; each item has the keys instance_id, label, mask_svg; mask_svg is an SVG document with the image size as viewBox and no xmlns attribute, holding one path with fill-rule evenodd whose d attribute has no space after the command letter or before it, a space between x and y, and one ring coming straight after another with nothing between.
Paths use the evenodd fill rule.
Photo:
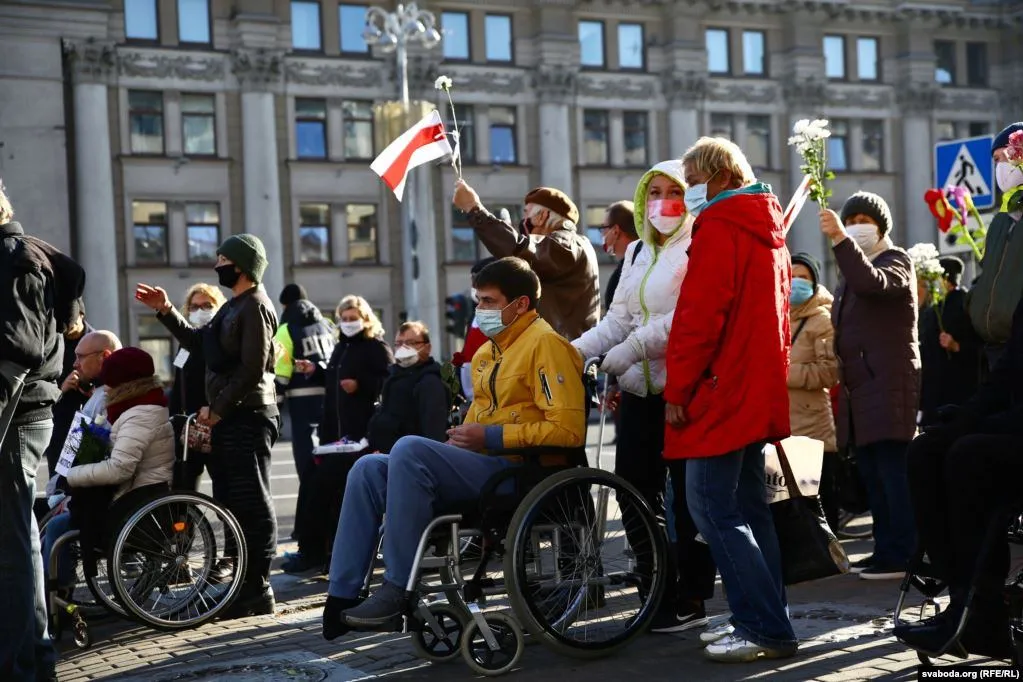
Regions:
<instances>
[{"instance_id":1,"label":"blue jeans of woman in dark purple coat raising white flowers","mask_svg":"<svg viewBox=\"0 0 1023 682\"><path fill-rule=\"evenodd\" d=\"M874 559L882 569L904 569L917 546L908 447L899 441L856 446L856 467L874 516Z\"/></svg>"}]
</instances>

